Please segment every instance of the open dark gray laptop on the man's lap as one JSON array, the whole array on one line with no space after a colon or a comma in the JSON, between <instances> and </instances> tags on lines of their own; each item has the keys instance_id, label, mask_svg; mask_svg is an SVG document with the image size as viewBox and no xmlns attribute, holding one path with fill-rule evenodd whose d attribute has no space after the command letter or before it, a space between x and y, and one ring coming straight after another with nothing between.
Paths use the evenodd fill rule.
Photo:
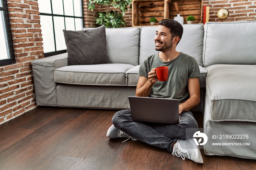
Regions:
<instances>
[{"instance_id":1,"label":"open dark gray laptop on the man's lap","mask_svg":"<svg viewBox=\"0 0 256 170\"><path fill-rule=\"evenodd\" d=\"M128 98L132 119L135 121L167 124L180 122L179 101L177 99L131 96Z\"/></svg>"}]
</instances>

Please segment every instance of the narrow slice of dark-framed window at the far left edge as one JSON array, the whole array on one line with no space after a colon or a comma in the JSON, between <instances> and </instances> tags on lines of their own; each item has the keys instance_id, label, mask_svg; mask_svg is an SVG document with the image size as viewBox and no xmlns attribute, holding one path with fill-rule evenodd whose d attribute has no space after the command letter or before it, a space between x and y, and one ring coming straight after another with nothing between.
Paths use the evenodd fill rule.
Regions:
<instances>
[{"instance_id":1,"label":"narrow slice of dark-framed window at the far left edge","mask_svg":"<svg viewBox=\"0 0 256 170\"><path fill-rule=\"evenodd\" d=\"M15 63L7 1L0 0L0 66Z\"/></svg>"}]
</instances>

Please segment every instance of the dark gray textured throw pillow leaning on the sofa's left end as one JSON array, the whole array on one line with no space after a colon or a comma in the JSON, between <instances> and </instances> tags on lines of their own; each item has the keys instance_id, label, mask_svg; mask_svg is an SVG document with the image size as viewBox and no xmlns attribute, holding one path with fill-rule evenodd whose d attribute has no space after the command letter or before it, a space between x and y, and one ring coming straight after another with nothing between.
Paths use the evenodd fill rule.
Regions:
<instances>
[{"instance_id":1,"label":"dark gray textured throw pillow leaning on the sofa's left end","mask_svg":"<svg viewBox=\"0 0 256 170\"><path fill-rule=\"evenodd\" d=\"M108 63L105 26L84 30L63 30L68 52L68 65Z\"/></svg>"}]
</instances>

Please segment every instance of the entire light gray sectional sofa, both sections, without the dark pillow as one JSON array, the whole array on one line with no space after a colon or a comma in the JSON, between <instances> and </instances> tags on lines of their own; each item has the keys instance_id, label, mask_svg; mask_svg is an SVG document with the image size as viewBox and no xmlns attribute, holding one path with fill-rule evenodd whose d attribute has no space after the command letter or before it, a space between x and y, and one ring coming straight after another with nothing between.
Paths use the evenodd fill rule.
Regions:
<instances>
[{"instance_id":1,"label":"entire light gray sectional sofa, both sections, without the dark pillow","mask_svg":"<svg viewBox=\"0 0 256 170\"><path fill-rule=\"evenodd\" d=\"M209 22L183 27L177 51L195 57L200 67L201 102L192 111L203 111L204 133L208 139L217 133L236 132L255 140L256 22ZM157 53L156 29L106 28L109 64L68 66L67 53L33 61L37 105L129 108L128 96L135 95L139 64ZM203 147L206 155L256 159L253 142L246 149L216 148L210 142Z\"/></svg>"}]
</instances>

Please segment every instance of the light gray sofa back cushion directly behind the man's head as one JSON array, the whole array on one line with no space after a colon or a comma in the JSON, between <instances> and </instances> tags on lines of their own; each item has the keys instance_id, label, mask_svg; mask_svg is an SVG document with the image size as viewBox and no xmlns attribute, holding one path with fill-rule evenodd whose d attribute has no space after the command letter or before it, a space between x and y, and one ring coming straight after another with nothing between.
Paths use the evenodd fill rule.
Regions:
<instances>
[{"instance_id":1,"label":"light gray sofa back cushion directly behind the man's head","mask_svg":"<svg viewBox=\"0 0 256 170\"><path fill-rule=\"evenodd\" d=\"M158 26L141 27L139 63L148 55L157 53L155 50L155 31ZM183 24L183 35L176 50L195 57L198 65L202 66L203 24Z\"/></svg>"}]
</instances>

